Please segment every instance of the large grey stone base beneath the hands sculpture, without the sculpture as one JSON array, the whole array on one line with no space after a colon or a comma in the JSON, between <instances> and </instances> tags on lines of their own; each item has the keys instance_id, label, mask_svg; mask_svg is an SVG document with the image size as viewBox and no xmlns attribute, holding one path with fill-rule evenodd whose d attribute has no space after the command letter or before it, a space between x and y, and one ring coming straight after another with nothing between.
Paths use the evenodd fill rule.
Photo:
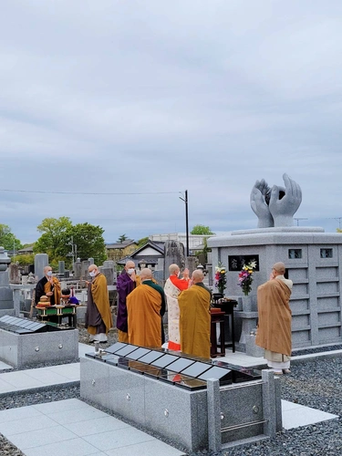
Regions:
<instances>
[{"instance_id":1,"label":"large grey stone base beneath the hands sculpture, without the sculpture","mask_svg":"<svg viewBox=\"0 0 342 456\"><path fill-rule=\"evenodd\" d=\"M269 280L273 264L280 261L285 263L285 276L294 283L290 298L293 347L342 342L340 233L324 233L323 228L315 227L264 228L211 237L208 246L212 248L212 265L221 262L227 269L229 297L241 298L239 349L245 350L245 336L256 326L257 287ZM251 259L257 262L257 270L252 292L245 299L238 275Z\"/></svg>"}]
</instances>

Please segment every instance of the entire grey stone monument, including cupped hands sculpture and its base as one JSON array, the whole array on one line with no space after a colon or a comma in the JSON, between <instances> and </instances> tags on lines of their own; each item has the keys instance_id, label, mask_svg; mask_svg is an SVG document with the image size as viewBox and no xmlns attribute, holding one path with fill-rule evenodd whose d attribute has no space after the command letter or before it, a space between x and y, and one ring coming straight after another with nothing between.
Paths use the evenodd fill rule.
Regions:
<instances>
[{"instance_id":1,"label":"entire grey stone monument, including cupped hands sculpture and its base","mask_svg":"<svg viewBox=\"0 0 342 456\"><path fill-rule=\"evenodd\" d=\"M251 331L257 325L257 288L269 280L273 264L285 264L285 277L294 283L292 308L292 347L340 344L342 236L325 233L321 227L295 226L294 214L302 202L300 186L284 174L285 187L256 181L250 195L258 227L208 239L212 265L223 264L227 271L229 297L239 305L234 312L237 349L253 353ZM243 295L239 274L255 260L252 290ZM212 278L214 278L214 270ZM241 331L239 331L241 328ZM241 334L239 334L241 332Z\"/></svg>"}]
</instances>

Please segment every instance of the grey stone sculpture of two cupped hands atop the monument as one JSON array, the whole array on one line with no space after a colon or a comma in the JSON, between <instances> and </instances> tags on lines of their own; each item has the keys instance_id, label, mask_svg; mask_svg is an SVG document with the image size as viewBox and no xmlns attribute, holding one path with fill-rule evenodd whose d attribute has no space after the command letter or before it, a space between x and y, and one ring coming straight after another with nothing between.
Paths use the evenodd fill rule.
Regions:
<instances>
[{"instance_id":1,"label":"grey stone sculpture of two cupped hands atop the monument","mask_svg":"<svg viewBox=\"0 0 342 456\"><path fill-rule=\"evenodd\" d=\"M270 189L264 179L254 183L251 207L258 218L258 228L293 226L294 214L302 202L302 191L287 174L283 179L285 188L274 185Z\"/></svg>"}]
</instances>

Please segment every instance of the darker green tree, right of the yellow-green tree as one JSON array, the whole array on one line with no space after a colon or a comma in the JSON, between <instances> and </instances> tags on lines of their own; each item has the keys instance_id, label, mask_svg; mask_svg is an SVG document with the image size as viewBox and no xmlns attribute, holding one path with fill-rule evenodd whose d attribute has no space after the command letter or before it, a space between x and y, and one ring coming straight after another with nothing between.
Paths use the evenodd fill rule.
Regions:
<instances>
[{"instance_id":1,"label":"darker green tree, right of the yellow-green tree","mask_svg":"<svg viewBox=\"0 0 342 456\"><path fill-rule=\"evenodd\" d=\"M94 258L96 264L102 264L106 260L106 244L102 236L104 232L100 226L89 223L78 223L70 229L70 237L72 236L81 259Z\"/></svg>"}]
</instances>

